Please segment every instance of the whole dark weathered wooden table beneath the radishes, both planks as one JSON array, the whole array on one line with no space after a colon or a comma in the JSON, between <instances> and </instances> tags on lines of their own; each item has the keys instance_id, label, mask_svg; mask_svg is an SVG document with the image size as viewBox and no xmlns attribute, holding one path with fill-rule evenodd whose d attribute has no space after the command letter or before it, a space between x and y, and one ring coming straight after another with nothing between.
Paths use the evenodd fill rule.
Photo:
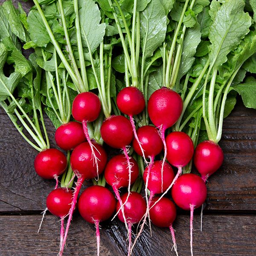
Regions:
<instances>
[{"instance_id":1,"label":"whole dark weathered wooden table beneath the radishes, both planks","mask_svg":"<svg viewBox=\"0 0 256 256\"><path fill-rule=\"evenodd\" d=\"M22 4L26 10L32 6L31 2ZM51 145L55 146L55 129L49 120L47 130ZM224 120L220 145L225 159L207 184L202 232L198 230L200 211L195 212L194 255L255 256L256 111L244 108L240 98L235 110ZM46 207L46 197L54 181L42 180L35 174L36 154L0 109L0 256L55 256L58 253L58 218L47 213L37 233L40 213ZM189 213L181 210L178 213L174 223L178 252L180 256L189 256ZM124 224L105 222L100 233L102 256L126 255ZM146 227L134 250L135 256L175 255L171 252L168 229L153 227L152 235ZM64 255L96 255L95 228L77 213Z\"/></svg>"}]
</instances>

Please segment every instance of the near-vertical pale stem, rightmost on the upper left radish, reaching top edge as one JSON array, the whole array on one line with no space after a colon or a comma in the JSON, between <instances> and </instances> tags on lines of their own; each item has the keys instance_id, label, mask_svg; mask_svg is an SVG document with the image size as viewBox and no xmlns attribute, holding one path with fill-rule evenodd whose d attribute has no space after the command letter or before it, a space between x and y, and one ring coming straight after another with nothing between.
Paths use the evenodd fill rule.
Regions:
<instances>
[{"instance_id":1,"label":"near-vertical pale stem, rightmost on the upper left radish, reaching top edge","mask_svg":"<svg viewBox=\"0 0 256 256\"><path fill-rule=\"evenodd\" d=\"M76 41L77 41L77 48L78 48L78 54L79 54L80 69L81 69L85 91L89 91L89 85L88 85L88 79L87 79L86 67L85 67L85 61L84 61L84 50L83 50L81 31L80 31L78 0L74 0L74 11L76 14L76 19L75 19Z\"/></svg>"}]
</instances>

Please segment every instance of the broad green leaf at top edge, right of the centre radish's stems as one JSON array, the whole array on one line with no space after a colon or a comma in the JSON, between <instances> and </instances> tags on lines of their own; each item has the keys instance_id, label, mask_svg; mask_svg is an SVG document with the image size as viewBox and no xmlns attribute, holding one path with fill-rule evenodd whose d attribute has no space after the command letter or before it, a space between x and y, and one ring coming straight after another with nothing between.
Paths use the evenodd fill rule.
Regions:
<instances>
[{"instance_id":1,"label":"broad green leaf at top edge, right of the centre radish's stems","mask_svg":"<svg viewBox=\"0 0 256 256\"><path fill-rule=\"evenodd\" d=\"M145 58L153 55L166 35L165 9L159 0L151 0L148 6L140 14L142 49Z\"/></svg>"}]
</instances>

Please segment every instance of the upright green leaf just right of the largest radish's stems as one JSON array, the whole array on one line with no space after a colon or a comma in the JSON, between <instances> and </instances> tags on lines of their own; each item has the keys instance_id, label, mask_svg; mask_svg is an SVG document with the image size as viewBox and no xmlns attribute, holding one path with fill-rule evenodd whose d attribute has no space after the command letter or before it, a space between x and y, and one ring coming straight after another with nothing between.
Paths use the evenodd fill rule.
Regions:
<instances>
[{"instance_id":1,"label":"upright green leaf just right of the largest radish's stems","mask_svg":"<svg viewBox=\"0 0 256 256\"><path fill-rule=\"evenodd\" d=\"M185 39L183 43L183 51L180 61L180 69L178 73L178 79L181 79L192 67L195 61L195 52L198 44L201 41L200 25L196 25L186 30Z\"/></svg>"}]
</instances>

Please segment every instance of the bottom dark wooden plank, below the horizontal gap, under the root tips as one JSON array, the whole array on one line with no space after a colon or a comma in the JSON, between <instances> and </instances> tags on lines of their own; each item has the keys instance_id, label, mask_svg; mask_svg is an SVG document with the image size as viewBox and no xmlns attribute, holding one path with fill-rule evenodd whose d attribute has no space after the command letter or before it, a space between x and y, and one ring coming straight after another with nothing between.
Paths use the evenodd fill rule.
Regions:
<instances>
[{"instance_id":1,"label":"bottom dark wooden plank, below the horizontal gap, under the root tips","mask_svg":"<svg viewBox=\"0 0 256 256\"><path fill-rule=\"evenodd\" d=\"M58 219L48 215L37 234L41 217L0 216L0 255L1 256L53 256L58 253ZM127 244L123 224L104 226L101 233L101 255L126 255ZM178 216L174 224L178 252L189 256L189 216ZM200 217L195 216L194 228L200 227ZM205 256L254 256L256 246L255 215L206 215L203 231L194 231L194 255ZM74 218L64 255L96 255L94 226L84 222L81 217ZM163 256L175 255L171 252L172 239L168 229L152 228L153 237L146 228L134 250L134 255Z\"/></svg>"}]
</instances>

